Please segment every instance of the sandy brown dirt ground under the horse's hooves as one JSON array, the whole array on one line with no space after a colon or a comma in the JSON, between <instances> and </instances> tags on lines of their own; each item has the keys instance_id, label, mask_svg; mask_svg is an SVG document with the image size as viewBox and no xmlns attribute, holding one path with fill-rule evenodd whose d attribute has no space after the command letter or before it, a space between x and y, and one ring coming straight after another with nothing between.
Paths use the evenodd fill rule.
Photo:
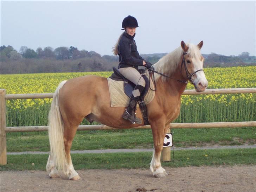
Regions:
<instances>
[{"instance_id":1,"label":"sandy brown dirt ground under the horse's hooves","mask_svg":"<svg viewBox=\"0 0 256 192\"><path fill-rule=\"evenodd\" d=\"M149 169L78 170L79 181L50 179L45 171L2 171L0 191L256 191L256 166L167 168L166 178Z\"/></svg>"}]
</instances>

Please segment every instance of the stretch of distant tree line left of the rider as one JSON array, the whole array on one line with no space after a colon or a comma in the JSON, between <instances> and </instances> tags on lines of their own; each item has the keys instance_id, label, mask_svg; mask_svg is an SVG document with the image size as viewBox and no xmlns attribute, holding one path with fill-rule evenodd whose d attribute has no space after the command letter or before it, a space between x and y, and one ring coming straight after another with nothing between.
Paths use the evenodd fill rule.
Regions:
<instances>
[{"instance_id":1,"label":"stretch of distant tree line left of the rider","mask_svg":"<svg viewBox=\"0 0 256 192\"><path fill-rule=\"evenodd\" d=\"M44 73L44 72L83 72L111 71L118 65L117 56L109 56L95 51L79 51L77 47L37 48L36 51L26 46L20 51L12 46L0 47L0 73Z\"/></svg>"}]
</instances>

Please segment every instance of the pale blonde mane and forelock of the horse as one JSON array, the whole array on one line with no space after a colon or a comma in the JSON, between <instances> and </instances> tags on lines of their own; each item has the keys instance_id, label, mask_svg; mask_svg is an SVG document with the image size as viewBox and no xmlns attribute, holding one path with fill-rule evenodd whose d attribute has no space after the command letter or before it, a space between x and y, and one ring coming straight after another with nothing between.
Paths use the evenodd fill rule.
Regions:
<instances>
[{"instance_id":1,"label":"pale blonde mane and forelock of the horse","mask_svg":"<svg viewBox=\"0 0 256 192\"><path fill-rule=\"evenodd\" d=\"M188 43L187 46L189 47L187 50L188 55L191 58L200 59L202 55L200 53L198 46L190 43ZM172 76L173 72L177 69L181 61L180 59L183 52L184 51L180 46L171 53L168 53L153 65L154 70L169 77ZM166 81L168 79L167 77L155 73L155 81L158 81L160 77L162 78L163 81Z\"/></svg>"}]
</instances>

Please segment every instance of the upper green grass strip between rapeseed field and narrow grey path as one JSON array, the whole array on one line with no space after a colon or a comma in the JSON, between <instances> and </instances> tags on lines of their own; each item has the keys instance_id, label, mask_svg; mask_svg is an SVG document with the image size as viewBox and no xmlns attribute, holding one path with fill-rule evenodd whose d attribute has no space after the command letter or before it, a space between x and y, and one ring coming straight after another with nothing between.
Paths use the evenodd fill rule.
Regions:
<instances>
[{"instance_id":1,"label":"upper green grass strip between rapeseed field and narrow grey path","mask_svg":"<svg viewBox=\"0 0 256 192\"><path fill-rule=\"evenodd\" d=\"M7 152L49 151L47 132L6 133ZM173 129L175 147L256 143L256 127ZM78 131L72 150L153 148L151 129Z\"/></svg>"}]
</instances>

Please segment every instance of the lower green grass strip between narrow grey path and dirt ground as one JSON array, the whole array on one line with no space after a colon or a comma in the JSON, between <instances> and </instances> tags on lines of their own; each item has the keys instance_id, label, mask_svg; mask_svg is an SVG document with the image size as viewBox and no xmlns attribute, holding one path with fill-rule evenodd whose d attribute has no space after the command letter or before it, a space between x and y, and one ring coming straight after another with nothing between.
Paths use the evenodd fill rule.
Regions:
<instances>
[{"instance_id":1,"label":"lower green grass strip between narrow grey path and dirt ground","mask_svg":"<svg viewBox=\"0 0 256 192\"><path fill-rule=\"evenodd\" d=\"M175 161L163 162L163 167L255 165L256 149L209 149L175 151ZM47 154L7 155L7 165L0 171L45 170ZM75 169L149 168L151 152L72 154ZM32 166L34 163L34 166Z\"/></svg>"}]
</instances>

